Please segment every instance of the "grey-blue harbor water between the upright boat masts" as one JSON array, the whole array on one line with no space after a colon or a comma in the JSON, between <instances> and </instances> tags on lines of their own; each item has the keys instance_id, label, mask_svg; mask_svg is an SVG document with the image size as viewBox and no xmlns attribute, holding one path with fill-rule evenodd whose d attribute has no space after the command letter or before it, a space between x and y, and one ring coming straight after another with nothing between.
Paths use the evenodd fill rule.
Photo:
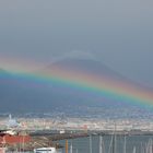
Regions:
<instances>
[{"instance_id":1,"label":"grey-blue harbor water between the upright boat masts","mask_svg":"<svg viewBox=\"0 0 153 153\"><path fill-rule=\"evenodd\" d=\"M146 149L149 141L153 139L153 136L127 136L126 137L126 153L133 153L133 148L136 148L136 153L144 153L144 149ZM99 137L91 137L92 146L90 146L91 141L90 138L79 138L73 140L68 140L69 142L69 153L72 150L72 153L99 153ZM64 146L64 140L59 143ZM109 150L110 142L113 141L111 136L103 137L103 145L105 151L103 153L113 153L113 149ZM123 153L125 146L125 137L117 136L116 137L116 153ZM72 149L71 148L72 144ZM114 143L115 144L115 143ZM90 149L92 151L90 151ZM64 149L62 149L62 153L66 153Z\"/></svg>"}]
</instances>

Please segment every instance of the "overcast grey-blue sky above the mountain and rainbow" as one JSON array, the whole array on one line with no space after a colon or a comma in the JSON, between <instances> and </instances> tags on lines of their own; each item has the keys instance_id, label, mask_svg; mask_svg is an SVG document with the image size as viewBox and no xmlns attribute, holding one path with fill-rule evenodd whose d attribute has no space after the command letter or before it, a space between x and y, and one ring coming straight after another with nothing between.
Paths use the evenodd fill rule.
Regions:
<instances>
[{"instance_id":1,"label":"overcast grey-blue sky above the mountain and rainbow","mask_svg":"<svg viewBox=\"0 0 153 153\"><path fill-rule=\"evenodd\" d=\"M86 55L153 87L152 8L151 0L1 0L0 59L45 66Z\"/></svg>"}]
</instances>

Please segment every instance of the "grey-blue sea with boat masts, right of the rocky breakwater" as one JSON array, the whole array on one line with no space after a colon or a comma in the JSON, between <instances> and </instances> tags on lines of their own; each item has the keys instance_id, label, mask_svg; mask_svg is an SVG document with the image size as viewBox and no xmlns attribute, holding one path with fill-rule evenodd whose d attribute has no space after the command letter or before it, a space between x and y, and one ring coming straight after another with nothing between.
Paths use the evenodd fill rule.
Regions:
<instances>
[{"instance_id":1,"label":"grey-blue sea with boat masts, right of the rocky breakwater","mask_svg":"<svg viewBox=\"0 0 153 153\"><path fill-rule=\"evenodd\" d=\"M70 139L68 144L69 153L152 153L152 140L153 136L91 136ZM59 143L64 146L66 140Z\"/></svg>"}]
</instances>

